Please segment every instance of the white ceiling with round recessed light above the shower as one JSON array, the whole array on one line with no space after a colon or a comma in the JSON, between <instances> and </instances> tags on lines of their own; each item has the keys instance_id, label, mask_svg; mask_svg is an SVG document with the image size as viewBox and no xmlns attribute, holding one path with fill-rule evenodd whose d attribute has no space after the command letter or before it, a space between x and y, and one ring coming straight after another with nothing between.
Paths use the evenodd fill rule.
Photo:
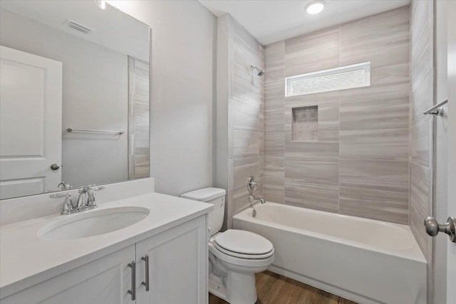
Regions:
<instances>
[{"instance_id":1,"label":"white ceiling with round recessed light above the shower","mask_svg":"<svg viewBox=\"0 0 456 304\"><path fill-rule=\"evenodd\" d=\"M311 0L199 0L215 16L230 14L262 45L321 28L396 9L410 0L325 0L316 15L305 11Z\"/></svg>"}]
</instances>

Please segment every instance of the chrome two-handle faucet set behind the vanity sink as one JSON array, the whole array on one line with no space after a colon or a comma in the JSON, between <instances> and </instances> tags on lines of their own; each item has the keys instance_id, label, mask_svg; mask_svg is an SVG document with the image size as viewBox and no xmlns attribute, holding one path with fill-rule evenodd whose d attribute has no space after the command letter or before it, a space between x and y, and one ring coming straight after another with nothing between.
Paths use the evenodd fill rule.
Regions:
<instances>
[{"instance_id":1,"label":"chrome two-handle faucet set behind the vanity sink","mask_svg":"<svg viewBox=\"0 0 456 304\"><path fill-rule=\"evenodd\" d=\"M78 202L76 206L73 205L73 201L71 200L71 193L67 192L63 193L55 193L51 194L49 197L51 199L58 199L61 197L65 197L65 201L63 202L63 209L61 214L73 214L76 212L86 211L89 209L95 209L97 204L95 202L95 192L98 190L105 189L105 187L97 187L97 188L90 188L90 187L83 187L79 189L79 196Z\"/></svg>"}]
</instances>

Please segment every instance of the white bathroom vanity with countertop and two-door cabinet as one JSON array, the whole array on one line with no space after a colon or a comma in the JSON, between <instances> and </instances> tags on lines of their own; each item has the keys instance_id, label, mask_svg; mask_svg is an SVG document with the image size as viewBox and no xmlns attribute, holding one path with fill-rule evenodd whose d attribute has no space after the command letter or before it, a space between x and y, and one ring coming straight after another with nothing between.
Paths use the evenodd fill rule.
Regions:
<instances>
[{"instance_id":1,"label":"white bathroom vanity with countertop and two-door cabinet","mask_svg":"<svg viewBox=\"0 0 456 304\"><path fill-rule=\"evenodd\" d=\"M149 193L78 214L3 225L0 303L207 303L207 213L212 208ZM135 213L135 224L104 234L80 227L76 230L92 236L79 239L76 233L66 239L53 232L90 218L103 223L101 218L110 216L97 227L106 231L119 225L123 214Z\"/></svg>"}]
</instances>

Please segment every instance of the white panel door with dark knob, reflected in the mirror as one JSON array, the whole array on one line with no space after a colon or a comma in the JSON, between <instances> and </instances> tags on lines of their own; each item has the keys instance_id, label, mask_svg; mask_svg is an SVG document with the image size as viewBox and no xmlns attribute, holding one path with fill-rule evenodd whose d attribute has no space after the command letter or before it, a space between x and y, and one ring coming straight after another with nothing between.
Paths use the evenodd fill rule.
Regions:
<instances>
[{"instance_id":1,"label":"white panel door with dark knob, reflected in the mirror","mask_svg":"<svg viewBox=\"0 0 456 304\"><path fill-rule=\"evenodd\" d=\"M0 199L61 182L62 63L0 46Z\"/></svg>"}]
</instances>

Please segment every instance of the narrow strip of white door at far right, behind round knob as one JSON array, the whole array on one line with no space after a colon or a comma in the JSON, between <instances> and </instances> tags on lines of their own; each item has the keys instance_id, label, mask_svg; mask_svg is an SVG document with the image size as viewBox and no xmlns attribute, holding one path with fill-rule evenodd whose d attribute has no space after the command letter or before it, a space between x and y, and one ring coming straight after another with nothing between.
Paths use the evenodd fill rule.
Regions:
<instances>
[{"instance_id":1,"label":"narrow strip of white door at far right, behind round knob","mask_svg":"<svg viewBox=\"0 0 456 304\"><path fill-rule=\"evenodd\" d=\"M456 217L456 1L448 1L448 216ZM447 242L447 303L456 299L456 243Z\"/></svg>"}]
</instances>

